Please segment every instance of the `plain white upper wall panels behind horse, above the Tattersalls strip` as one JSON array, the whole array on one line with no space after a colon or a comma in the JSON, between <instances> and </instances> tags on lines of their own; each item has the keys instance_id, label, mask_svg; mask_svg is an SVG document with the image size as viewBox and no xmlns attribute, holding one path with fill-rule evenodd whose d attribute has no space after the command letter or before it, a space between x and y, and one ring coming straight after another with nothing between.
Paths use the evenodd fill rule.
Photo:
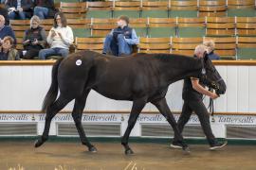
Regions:
<instances>
[{"instance_id":1,"label":"plain white upper wall panels behind horse, above the Tattersalls strip","mask_svg":"<svg viewBox=\"0 0 256 170\"><path fill-rule=\"evenodd\" d=\"M218 112L256 112L256 66L217 66L227 82L227 93L215 100ZM0 110L40 110L51 80L51 66L0 66ZM182 107L183 82L170 86L167 100L171 110ZM89 94L85 110L130 110L131 102ZM64 110L72 110L71 102ZM153 111L148 104L144 110Z\"/></svg>"}]
</instances>

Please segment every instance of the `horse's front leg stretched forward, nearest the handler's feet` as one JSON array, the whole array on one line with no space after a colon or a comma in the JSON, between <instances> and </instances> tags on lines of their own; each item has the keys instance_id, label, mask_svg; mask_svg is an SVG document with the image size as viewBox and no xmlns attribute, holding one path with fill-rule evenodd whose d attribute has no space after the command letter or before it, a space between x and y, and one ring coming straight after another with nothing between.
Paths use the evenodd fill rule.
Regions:
<instances>
[{"instance_id":1,"label":"horse's front leg stretched forward, nearest the handler's feet","mask_svg":"<svg viewBox=\"0 0 256 170\"><path fill-rule=\"evenodd\" d=\"M173 113L171 112L171 110L169 109L169 107L167 105L166 98L164 97L160 100L154 101L154 102L152 102L152 104L155 105L157 110L160 111L160 113L166 118L168 123L173 127L175 139L177 139L178 142L182 145L183 150L189 152L190 148L183 141L183 137L182 137L180 131L178 130L177 123L174 119L174 115L173 115Z\"/></svg>"}]
</instances>

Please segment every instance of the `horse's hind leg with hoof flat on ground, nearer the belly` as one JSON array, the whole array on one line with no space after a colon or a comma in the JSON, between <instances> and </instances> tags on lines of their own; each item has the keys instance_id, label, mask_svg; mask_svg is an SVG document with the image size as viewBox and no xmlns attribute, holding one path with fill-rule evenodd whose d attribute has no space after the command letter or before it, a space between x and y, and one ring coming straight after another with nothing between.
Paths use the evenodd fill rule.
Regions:
<instances>
[{"instance_id":1,"label":"horse's hind leg with hoof flat on ground, nearer the belly","mask_svg":"<svg viewBox=\"0 0 256 170\"><path fill-rule=\"evenodd\" d=\"M86 138L85 132L82 128L82 110L85 107L86 98L87 98L89 92L90 92L90 90L83 93L82 96L76 98L75 106L72 111L72 117L75 121L82 144L86 145L90 152L97 152L96 147L94 145L90 144L90 142Z\"/></svg>"}]
</instances>

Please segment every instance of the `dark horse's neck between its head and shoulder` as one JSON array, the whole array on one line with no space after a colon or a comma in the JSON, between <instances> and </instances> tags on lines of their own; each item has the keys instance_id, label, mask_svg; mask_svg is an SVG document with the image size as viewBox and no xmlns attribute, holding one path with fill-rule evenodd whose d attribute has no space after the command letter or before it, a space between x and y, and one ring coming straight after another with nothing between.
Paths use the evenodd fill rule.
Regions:
<instances>
[{"instance_id":1,"label":"dark horse's neck between its head and shoulder","mask_svg":"<svg viewBox=\"0 0 256 170\"><path fill-rule=\"evenodd\" d=\"M166 72L166 80L170 84L186 77L198 77L202 69L200 60L188 58L166 60L162 66Z\"/></svg>"}]
</instances>

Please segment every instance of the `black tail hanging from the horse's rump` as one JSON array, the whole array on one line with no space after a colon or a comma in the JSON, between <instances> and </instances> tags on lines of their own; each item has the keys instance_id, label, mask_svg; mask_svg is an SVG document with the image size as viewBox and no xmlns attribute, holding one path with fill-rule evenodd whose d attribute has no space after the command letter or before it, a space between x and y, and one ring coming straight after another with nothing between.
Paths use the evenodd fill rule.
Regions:
<instances>
[{"instance_id":1,"label":"black tail hanging from the horse's rump","mask_svg":"<svg viewBox=\"0 0 256 170\"><path fill-rule=\"evenodd\" d=\"M64 58L58 59L54 65L52 66L51 70L51 84L48 92L46 93L46 97L43 102L42 111L46 111L47 107L50 106L57 98L58 95L58 69L60 63Z\"/></svg>"}]
</instances>

